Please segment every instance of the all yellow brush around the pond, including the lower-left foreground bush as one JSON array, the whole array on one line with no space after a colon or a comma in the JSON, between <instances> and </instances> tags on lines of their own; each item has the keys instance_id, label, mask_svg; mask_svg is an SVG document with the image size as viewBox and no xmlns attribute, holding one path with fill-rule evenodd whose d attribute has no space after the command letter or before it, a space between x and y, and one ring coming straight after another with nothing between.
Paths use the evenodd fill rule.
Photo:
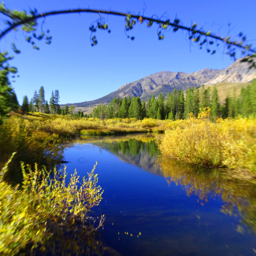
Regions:
<instances>
[{"instance_id":1,"label":"all yellow brush around the pond, including the lower-left foreground bush","mask_svg":"<svg viewBox=\"0 0 256 256\"><path fill-rule=\"evenodd\" d=\"M54 247L55 238L62 236L64 229L74 228L80 232L74 234L76 240L69 241L67 234L67 243L62 248L72 253L73 249L78 250L81 239L85 239L82 242L91 245L88 250L100 252L102 247L96 230L104 216L97 227L88 222L90 208L102 199L95 166L81 184L75 172L65 186L65 170L56 172L54 165L63 163L65 143L77 135L84 135L82 138L86 141L97 140L92 135L130 133L155 134L161 157L166 159L177 159L192 166L214 166L220 173L224 169L236 177L255 179L256 119L253 117L212 122L210 109L202 111L197 118L190 114L189 119L176 121L11 113L0 126L0 167L3 167L0 173L0 251L7 254L44 251L47 244L57 250L60 246ZM119 140L127 140L127 136ZM166 166L168 170L172 165ZM77 229L77 225L83 228Z\"/></svg>"}]
</instances>

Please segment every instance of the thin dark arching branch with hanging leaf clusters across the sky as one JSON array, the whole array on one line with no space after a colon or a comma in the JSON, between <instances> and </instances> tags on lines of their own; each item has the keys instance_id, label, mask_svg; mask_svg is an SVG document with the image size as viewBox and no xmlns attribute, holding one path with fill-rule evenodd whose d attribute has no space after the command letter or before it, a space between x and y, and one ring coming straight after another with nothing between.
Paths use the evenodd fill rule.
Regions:
<instances>
[{"instance_id":1,"label":"thin dark arching branch with hanging leaf clusters across the sky","mask_svg":"<svg viewBox=\"0 0 256 256\"><path fill-rule=\"evenodd\" d=\"M0 33L0 40L11 30L17 30L17 28L20 25L27 26L26 27L27 31L25 30L26 32L31 32L33 30L36 30L36 25L37 25L36 20L41 18L46 18L47 16L69 14L69 13L79 13L79 14L80 13L97 13L97 14L100 13L100 14L108 14L108 15L125 17L125 21L126 21L125 31L131 30L137 22L143 23L143 21L146 21L148 27L151 27L153 23L157 23L159 24L159 29L158 29L159 40L164 38L164 34L163 34L164 30L166 30L166 28L170 28L172 29L173 32L176 32L178 30L187 31L189 40L195 43L198 43L200 46L200 49L202 48L202 46L206 46L207 52L210 54L215 54L216 50L215 49L211 50L209 49L208 46L211 46L212 44L215 44L216 46L218 46L219 42L222 42L225 44L228 50L226 54L228 54L233 59L236 59L236 49L241 49L242 54L244 56L246 55L252 56L252 57L256 56L256 49L253 49L250 44L245 43L246 37L243 35L243 33L239 33L238 37L241 38L239 41L232 41L230 40L229 36L222 37L215 33L212 33L211 31L203 31L202 28L198 29L196 23L194 23L192 26L184 26L181 24L180 20L177 18L175 18L174 21L171 22L169 19L166 20L164 18L158 18L158 17L155 18L155 15L153 15L152 17L146 17L144 15L139 15L139 14L135 15L131 13L123 13L123 12L118 12L113 10L100 10L100 9L90 9L90 8L54 10L54 11L49 11L45 13L37 13L37 11L35 10L35 11L31 11L31 15L27 15L26 12L15 13L14 11L12 12L9 9L7 10L3 4L0 5L0 13L3 13L4 15L8 16L11 20L13 20L13 22L8 21L9 26ZM96 32L96 28L107 29L108 25L107 23L106 24L97 23L96 26L90 27L90 30L92 31L92 33ZM108 32L110 33L110 30L108 30ZM38 39L38 37L36 37L35 35L33 36ZM39 38L41 39L42 36L39 36ZM208 41L207 38L210 41ZM30 38L28 39L30 40ZM133 40L134 37L132 36L131 39ZM95 39L95 36L91 37L91 42L92 42L92 46L97 44L97 40ZM34 48L38 49L38 47L35 45L34 45ZM253 62L251 58L247 58L247 61ZM254 65L255 63L253 62L253 66Z\"/></svg>"}]
</instances>

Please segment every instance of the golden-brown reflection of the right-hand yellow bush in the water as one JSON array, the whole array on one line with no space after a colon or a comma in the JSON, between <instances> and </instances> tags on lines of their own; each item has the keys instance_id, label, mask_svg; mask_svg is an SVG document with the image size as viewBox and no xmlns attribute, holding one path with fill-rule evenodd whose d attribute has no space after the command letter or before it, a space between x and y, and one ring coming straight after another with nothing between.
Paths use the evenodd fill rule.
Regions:
<instances>
[{"instance_id":1,"label":"golden-brown reflection of the right-hand yellow bush in the water","mask_svg":"<svg viewBox=\"0 0 256 256\"><path fill-rule=\"evenodd\" d=\"M159 157L156 165L160 166L169 184L181 184L188 196L197 195L202 203L207 202L208 197L220 196L224 202L221 212L235 216L239 213L243 224L256 233L255 179L248 181L242 177L233 177L232 170L190 166L163 156ZM237 231L243 232L243 229L238 226Z\"/></svg>"}]
</instances>

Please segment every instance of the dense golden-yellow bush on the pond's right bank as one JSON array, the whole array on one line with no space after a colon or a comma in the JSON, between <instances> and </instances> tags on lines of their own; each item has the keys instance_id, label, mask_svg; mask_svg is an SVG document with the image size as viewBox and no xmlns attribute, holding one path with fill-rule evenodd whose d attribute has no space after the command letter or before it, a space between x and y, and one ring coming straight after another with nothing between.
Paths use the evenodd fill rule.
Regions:
<instances>
[{"instance_id":1,"label":"dense golden-yellow bush on the pond's right bank","mask_svg":"<svg viewBox=\"0 0 256 256\"><path fill-rule=\"evenodd\" d=\"M167 129L161 153L191 164L225 166L256 172L256 119L208 120L209 110L184 126Z\"/></svg>"}]
</instances>

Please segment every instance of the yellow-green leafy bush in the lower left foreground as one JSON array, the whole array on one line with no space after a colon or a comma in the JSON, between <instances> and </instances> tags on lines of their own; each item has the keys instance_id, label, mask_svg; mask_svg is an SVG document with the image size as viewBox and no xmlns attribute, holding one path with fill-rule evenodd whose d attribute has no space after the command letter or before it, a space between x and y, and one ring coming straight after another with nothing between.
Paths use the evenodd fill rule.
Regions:
<instances>
[{"instance_id":1,"label":"yellow-green leafy bush in the lower left foreground","mask_svg":"<svg viewBox=\"0 0 256 256\"><path fill-rule=\"evenodd\" d=\"M9 161L10 162L10 161ZM9 163L8 162L8 163ZM35 170L22 164L23 184L11 187L3 181L8 163L0 173L0 254L14 255L44 251L50 254L100 252L97 228L88 217L102 199L95 167L88 179L79 182L77 172L66 184L63 173ZM96 163L97 164L97 163Z\"/></svg>"}]
</instances>

